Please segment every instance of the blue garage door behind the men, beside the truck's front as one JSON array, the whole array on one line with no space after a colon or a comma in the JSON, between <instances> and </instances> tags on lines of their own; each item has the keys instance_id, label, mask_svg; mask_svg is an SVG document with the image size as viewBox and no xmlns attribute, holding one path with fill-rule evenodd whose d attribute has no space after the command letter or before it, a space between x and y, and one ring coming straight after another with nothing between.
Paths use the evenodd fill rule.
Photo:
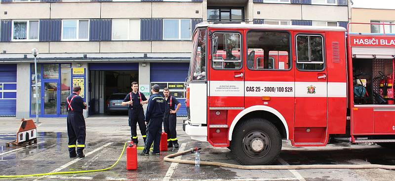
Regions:
<instances>
[{"instance_id":1,"label":"blue garage door behind the men, beside the truck's front","mask_svg":"<svg viewBox=\"0 0 395 181\"><path fill-rule=\"evenodd\" d=\"M168 87L170 94L181 103L177 116L187 116L185 88L182 85L188 76L189 63L151 63L150 68L151 84L158 84L161 92L164 87Z\"/></svg>"}]
</instances>

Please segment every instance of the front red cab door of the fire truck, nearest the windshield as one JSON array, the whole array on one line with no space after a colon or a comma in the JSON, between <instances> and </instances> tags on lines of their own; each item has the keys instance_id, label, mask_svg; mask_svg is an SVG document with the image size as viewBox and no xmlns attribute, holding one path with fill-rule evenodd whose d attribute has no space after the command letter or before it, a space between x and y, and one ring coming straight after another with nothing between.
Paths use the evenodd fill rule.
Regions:
<instances>
[{"instance_id":1,"label":"front red cab door of the fire truck, nearest the windshield","mask_svg":"<svg viewBox=\"0 0 395 181\"><path fill-rule=\"evenodd\" d=\"M209 72L209 106L244 107L243 31L213 31Z\"/></svg>"}]
</instances>

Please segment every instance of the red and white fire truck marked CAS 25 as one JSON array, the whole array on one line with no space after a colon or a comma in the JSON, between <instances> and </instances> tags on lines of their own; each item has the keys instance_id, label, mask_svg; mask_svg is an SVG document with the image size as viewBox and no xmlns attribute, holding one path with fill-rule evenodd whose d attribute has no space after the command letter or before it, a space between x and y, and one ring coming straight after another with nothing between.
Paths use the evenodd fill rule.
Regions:
<instances>
[{"instance_id":1,"label":"red and white fire truck marked CAS 25","mask_svg":"<svg viewBox=\"0 0 395 181\"><path fill-rule=\"evenodd\" d=\"M193 43L183 129L241 164L271 164L282 139L395 146L394 35L199 24Z\"/></svg>"}]
</instances>

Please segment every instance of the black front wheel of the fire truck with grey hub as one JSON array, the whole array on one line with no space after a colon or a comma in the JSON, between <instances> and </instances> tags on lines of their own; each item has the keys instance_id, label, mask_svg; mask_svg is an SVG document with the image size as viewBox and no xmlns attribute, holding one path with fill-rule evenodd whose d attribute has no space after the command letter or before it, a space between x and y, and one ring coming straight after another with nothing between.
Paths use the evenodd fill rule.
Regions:
<instances>
[{"instance_id":1,"label":"black front wheel of the fire truck with grey hub","mask_svg":"<svg viewBox=\"0 0 395 181\"><path fill-rule=\"evenodd\" d=\"M236 126L230 148L242 165L269 165L281 151L281 135L270 121L250 119Z\"/></svg>"}]
</instances>

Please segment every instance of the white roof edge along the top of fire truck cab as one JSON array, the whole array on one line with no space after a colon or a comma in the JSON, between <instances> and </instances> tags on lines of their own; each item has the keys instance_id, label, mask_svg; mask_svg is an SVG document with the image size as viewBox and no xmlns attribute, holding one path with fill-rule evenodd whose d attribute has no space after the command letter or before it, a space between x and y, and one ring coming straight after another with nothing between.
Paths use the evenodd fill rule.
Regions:
<instances>
[{"instance_id":1,"label":"white roof edge along the top of fire truck cab","mask_svg":"<svg viewBox=\"0 0 395 181\"><path fill-rule=\"evenodd\" d=\"M240 28L240 29L280 29L280 30L325 30L325 31L347 31L343 27L319 27L319 26L296 26L296 25L266 25L266 24L208 24L199 23L196 28Z\"/></svg>"}]
</instances>

